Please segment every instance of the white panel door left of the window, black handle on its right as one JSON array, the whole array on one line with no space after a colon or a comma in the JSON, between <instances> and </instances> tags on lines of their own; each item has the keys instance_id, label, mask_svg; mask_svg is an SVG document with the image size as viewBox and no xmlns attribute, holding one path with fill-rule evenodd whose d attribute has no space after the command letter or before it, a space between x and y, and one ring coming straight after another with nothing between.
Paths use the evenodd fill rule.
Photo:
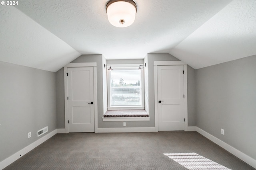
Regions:
<instances>
[{"instance_id":1,"label":"white panel door left of the window, black handle on its right","mask_svg":"<svg viewBox=\"0 0 256 170\"><path fill-rule=\"evenodd\" d=\"M93 67L68 68L68 131L94 132Z\"/></svg>"}]
</instances>

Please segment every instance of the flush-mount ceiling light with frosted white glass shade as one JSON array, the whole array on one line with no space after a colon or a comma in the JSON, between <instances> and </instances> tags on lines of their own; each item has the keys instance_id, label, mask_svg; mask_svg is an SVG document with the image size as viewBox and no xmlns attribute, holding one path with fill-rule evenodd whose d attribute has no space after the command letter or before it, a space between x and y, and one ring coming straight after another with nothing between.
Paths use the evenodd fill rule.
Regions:
<instances>
[{"instance_id":1,"label":"flush-mount ceiling light with frosted white glass shade","mask_svg":"<svg viewBox=\"0 0 256 170\"><path fill-rule=\"evenodd\" d=\"M133 0L110 0L106 5L108 21L115 27L132 25L137 13L137 5Z\"/></svg>"}]
</instances>

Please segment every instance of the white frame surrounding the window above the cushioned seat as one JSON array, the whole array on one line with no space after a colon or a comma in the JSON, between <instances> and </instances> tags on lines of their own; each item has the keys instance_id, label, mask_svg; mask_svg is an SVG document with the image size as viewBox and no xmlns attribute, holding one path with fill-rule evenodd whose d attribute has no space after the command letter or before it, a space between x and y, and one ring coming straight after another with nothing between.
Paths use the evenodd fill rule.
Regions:
<instances>
[{"instance_id":1,"label":"white frame surrounding the window above the cushioned seat","mask_svg":"<svg viewBox=\"0 0 256 170\"><path fill-rule=\"evenodd\" d=\"M139 65L143 64L109 64L111 68L116 70L136 70ZM142 67L141 71L141 106L115 106L110 105L110 70L107 70L107 91L108 91L108 110L144 110L144 69Z\"/></svg>"}]
</instances>

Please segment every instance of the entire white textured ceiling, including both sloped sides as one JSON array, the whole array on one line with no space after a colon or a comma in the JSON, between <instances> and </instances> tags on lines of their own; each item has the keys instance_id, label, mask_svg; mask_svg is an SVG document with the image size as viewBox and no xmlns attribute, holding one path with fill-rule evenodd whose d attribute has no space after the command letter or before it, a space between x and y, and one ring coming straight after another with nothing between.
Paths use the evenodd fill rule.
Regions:
<instances>
[{"instance_id":1,"label":"entire white textured ceiling, including both sloped sides","mask_svg":"<svg viewBox=\"0 0 256 170\"><path fill-rule=\"evenodd\" d=\"M107 19L108 0L23 0L0 6L0 61L57 71L81 54L170 53L193 68L256 55L255 0L134 0L135 22Z\"/></svg>"}]
</instances>

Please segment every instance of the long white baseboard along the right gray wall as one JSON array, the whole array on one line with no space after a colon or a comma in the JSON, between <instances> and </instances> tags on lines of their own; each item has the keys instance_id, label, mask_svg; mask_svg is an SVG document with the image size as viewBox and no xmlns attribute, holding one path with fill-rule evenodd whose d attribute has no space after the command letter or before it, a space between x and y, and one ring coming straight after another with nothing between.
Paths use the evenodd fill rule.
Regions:
<instances>
[{"instance_id":1,"label":"long white baseboard along the right gray wall","mask_svg":"<svg viewBox=\"0 0 256 170\"><path fill-rule=\"evenodd\" d=\"M216 143L220 147L224 148L228 152L234 154L236 157L240 158L241 160L243 160L244 162L246 162L250 166L256 168L256 160L255 159L253 159L250 156L244 154L240 150L235 149L234 147L228 145L227 143L221 141L220 139L214 137L210 133L207 133L206 131L200 129L199 127L196 127L196 131L198 133L200 133L201 135L203 135L204 137L210 139L212 142Z\"/></svg>"}]
</instances>

